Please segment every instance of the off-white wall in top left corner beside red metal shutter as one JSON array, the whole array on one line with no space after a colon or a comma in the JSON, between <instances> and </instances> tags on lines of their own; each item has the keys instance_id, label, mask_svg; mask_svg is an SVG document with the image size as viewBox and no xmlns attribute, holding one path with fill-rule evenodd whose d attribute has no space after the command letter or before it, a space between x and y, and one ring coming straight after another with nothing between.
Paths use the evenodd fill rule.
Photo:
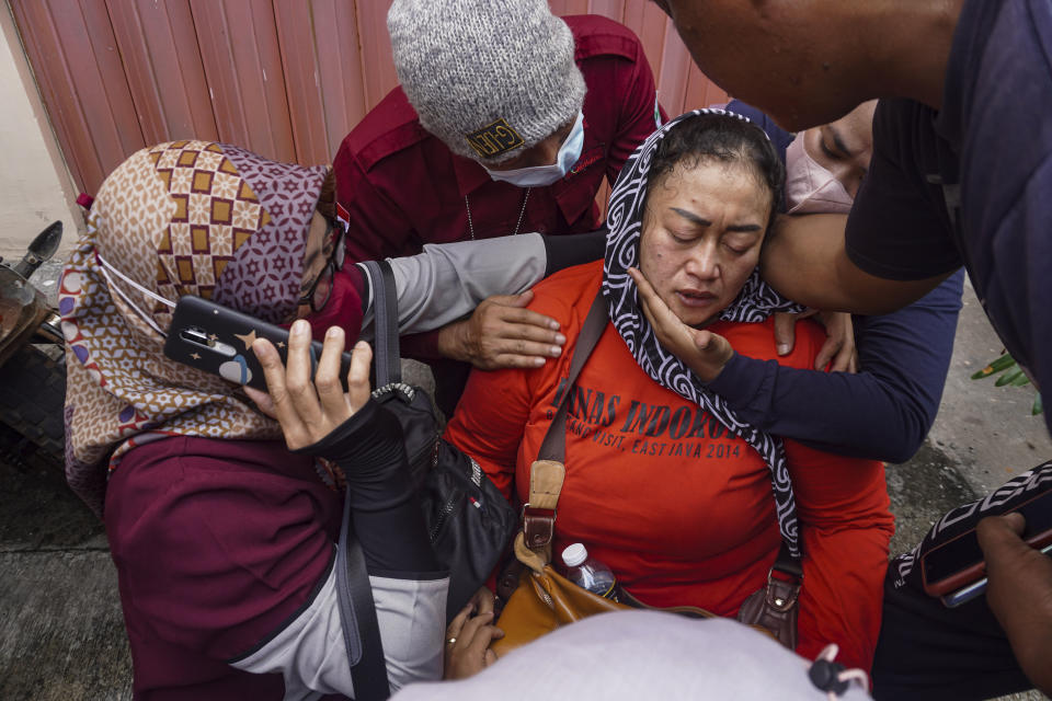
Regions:
<instances>
[{"instance_id":1,"label":"off-white wall in top left corner beside red metal shutter","mask_svg":"<svg viewBox=\"0 0 1052 701\"><path fill-rule=\"evenodd\" d=\"M64 226L58 255L65 255L84 226L76 187L7 2L0 30L0 255L21 258L33 237L56 219Z\"/></svg>"}]
</instances>

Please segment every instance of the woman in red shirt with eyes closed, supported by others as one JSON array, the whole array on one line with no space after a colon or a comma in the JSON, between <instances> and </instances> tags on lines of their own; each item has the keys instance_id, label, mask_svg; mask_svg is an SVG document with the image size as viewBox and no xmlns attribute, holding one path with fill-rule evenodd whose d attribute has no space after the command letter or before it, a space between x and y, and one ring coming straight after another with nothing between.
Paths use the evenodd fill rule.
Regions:
<instances>
[{"instance_id":1,"label":"woman in red shirt with eyes closed, supported by others","mask_svg":"<svg viewBox=\"0 0 1052 701\"><path fill-rule=\"evenodd\" d=\"M610 322L569 402L556 552L583 542L643 604L733 617L785 549L802 558L797 652L814 658L834 642L838 662L868 669L892 532L881 464L743 423L662 347L640 307L642 283L695 333L813 367L823 333L801 324L779 357L768 317L792 304L755 269L784 179L743 117L698 111L655 131L610 196L604 264L535 287L531 309L568 338L560 359L473 374L447 437L525 501L583 320L603 295Z\"/></svg>"}]
</instances>

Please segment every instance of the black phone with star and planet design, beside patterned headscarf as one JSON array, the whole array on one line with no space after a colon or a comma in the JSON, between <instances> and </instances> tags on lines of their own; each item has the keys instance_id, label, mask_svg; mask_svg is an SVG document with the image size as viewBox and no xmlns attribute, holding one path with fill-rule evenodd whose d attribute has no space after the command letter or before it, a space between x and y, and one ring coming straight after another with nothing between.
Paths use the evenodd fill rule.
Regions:
<instances>
[{"instance_id":1,"label":"black phone with star and planet design, beside patterned headscarf","mask_svg":"<svg viewBox=\"0 0 1052 701\"><path fill-rule=\"evenodd\" d=\"M186 295L179 298L172 325L164 342L164 355L237 384L266 390L263 367L252 352L252 342L266 338L274 344L284 364L288 355L288 330L261 321L214 301ZM310 344L310 376L315 376L322 344ZM340 363L340 379L347 389L351 354Z\"/></svg>"}]
</instances>

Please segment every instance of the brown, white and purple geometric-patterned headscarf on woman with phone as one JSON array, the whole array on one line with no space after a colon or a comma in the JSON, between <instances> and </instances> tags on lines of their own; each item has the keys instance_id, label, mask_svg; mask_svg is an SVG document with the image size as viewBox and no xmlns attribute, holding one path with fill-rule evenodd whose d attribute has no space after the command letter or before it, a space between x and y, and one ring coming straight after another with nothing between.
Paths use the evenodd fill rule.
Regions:
<instances>
[{"instance_id":1,"label":"brown, white and purple geometric-patterned headscarf on woman with phone","mask_svg":"<svg viewBox=\"0 0 1052 701\"><path fill-rule=\"evenodd\" d=\"M163 333L183 295L288 319L327 173L175 141L138 151L102 184L59 287L66 476L96 514L107 471L137 445L281 436L231 386L164 357Z\"/></svg>"}]
</instances>

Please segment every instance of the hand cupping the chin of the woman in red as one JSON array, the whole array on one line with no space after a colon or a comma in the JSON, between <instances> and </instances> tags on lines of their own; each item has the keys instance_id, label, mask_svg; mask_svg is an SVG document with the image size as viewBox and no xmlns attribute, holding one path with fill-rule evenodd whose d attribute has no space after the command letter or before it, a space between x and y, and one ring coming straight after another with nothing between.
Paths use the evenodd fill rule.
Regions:
<instances>
[{"instance_id":1,"label":"hand cupping the chin of the woman in red","mask_svg":"<svg viewBox=\"0 0 1052 701\"><path fill-rule=\"evenodd\" d=\"M683 360L699 380L714 380L734 355L730 342L711 331L693 329L683 323L662 301L642 273L630 267L628 274L639 287L639 304L647 321L653 326L658 342Z\"/></svg>"}]
</instances>

